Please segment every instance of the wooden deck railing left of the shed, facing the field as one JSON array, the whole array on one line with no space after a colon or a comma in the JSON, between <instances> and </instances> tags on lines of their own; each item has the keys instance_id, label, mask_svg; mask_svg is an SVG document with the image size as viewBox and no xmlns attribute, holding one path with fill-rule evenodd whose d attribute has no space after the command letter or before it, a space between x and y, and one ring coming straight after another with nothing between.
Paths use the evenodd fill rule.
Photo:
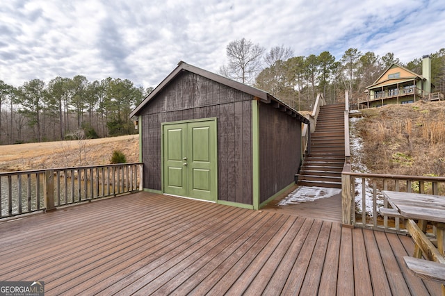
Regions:
<instances>
[{"instance_id":1,"label":"wooden deck railing left of the shed, facing the field","mask_svg":"<svg viewBox=\"0 0 445 296\"><path fill-rule=\"evenodd\" d=\"M143 164L0 173L0 218L143 190Z\"/></svg>"}]
</instances>

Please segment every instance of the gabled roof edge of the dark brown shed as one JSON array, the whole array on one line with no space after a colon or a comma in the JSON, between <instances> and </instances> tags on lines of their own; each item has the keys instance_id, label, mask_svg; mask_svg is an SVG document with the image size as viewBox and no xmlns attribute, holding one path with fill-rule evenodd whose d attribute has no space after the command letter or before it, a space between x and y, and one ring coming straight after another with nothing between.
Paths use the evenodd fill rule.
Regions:
<instances>
[{"instance_id":1,"label":"gabled roof edge of the dark brown shed","mask_svg":"<svg viewBox=\"0 0 445 296\"><path fill-rule=\"evenodd\" d=\"M300 120L300 122L309 124L309 120L307 120L306 117L300 115L300 113L298 113L297 110L288 106L280 99L273 97L268 92L265 92L264 90L259 90L258 88L254 88L250 85L246 85L238 81L234 81L232 79L228 79L224 76L214 74L212 72L195 67L193 65L189 65L183 61L180 61L177 67L170 74L168 74L168 76L165 77L165 79L161 83L159 83L159 85L156 86L156 88L152 92L150 92L150 94L130 113L130 117L138 115L140 111L149 103L149 101L151 101L156 97L156 94L161 92L161 90L163 90L163 88L165 88L165 86L168 85L170 81L175 79L175 77L183 71L195 73L207 79L211 79L223 85L227 85L230 88L234 88L236 90L240 90L241 92L251 94L255 99L259 99L259 101L262 101L266 104L274 104L275 108L280 108L280 110L282 110L286 114L291 115L292 117L297 117L298 120Z\"/></svg>"}]
</instances>

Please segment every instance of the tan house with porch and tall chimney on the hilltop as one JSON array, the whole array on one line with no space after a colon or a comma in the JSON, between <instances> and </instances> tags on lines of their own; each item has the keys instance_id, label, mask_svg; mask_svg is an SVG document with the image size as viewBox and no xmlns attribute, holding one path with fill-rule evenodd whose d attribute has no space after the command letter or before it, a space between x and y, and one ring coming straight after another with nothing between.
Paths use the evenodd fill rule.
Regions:
<instances>
[{"instance_id":1,"label":"tan house with porch and tall chimney on the hilltop","mask_svg":"<svg viewBox=\"0 0 445 296\"><path fill-rule=\"evenodd\" d=\"M362 108L369 108L413 103L419 99L430 101L443 99L443 94L434 94L433 91L430 56L423 56L422 75L392 64L366 88L366 100L360 104Z\"/></svg>"}]
</instances>

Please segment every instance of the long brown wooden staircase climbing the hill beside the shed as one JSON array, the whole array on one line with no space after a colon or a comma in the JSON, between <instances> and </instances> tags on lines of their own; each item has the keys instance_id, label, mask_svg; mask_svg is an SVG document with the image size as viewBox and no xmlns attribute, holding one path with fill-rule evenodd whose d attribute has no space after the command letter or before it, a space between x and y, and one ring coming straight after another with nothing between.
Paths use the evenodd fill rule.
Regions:
<instances>
[{"instance_id":1,"label":"long brown wooden staircase climbing the hill beside the shed","mask_svg":"<svg viewBox=\"0 0 445 296\"><path fill-rule=\"evenodd\" d=\"M298 177L299 186L341 188L345 160L344 104L320 108L311 153L305 154Z\"/></svg>"}]
</instances>

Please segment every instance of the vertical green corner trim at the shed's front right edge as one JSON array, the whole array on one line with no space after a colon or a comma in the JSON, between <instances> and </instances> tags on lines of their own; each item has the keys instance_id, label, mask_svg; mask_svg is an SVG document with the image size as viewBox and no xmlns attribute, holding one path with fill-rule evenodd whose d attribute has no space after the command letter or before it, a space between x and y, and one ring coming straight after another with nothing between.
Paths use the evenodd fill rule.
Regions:
<instances>
[{"instance_id":1,"label":"vertical green corner trim at the shed's front right edge","mask_svg":"<svg viewBox=\"0 0 445 296\"><path fill-rule=\"evenodd\" d=\"M259 106L252 100L252 202L254 210L259 209Z\"/></svg>"}]
</instances>

